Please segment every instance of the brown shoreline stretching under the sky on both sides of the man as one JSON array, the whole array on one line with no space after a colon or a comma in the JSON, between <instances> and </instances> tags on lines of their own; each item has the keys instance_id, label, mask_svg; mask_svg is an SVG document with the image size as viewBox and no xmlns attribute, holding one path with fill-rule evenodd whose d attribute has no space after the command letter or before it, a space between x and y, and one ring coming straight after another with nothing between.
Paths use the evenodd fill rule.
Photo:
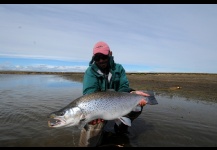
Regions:
<instances>
[{"instance_id":1,"label":"brown shoreline stretching under the sky on both sides of the man","mask_svg":"<svg viewBox=\"0 0 217 150\"><path fill-rule=\"evenodd\" d=\"M82 82L83 72L0 71L0 74L53 74ZM209 73L127 73L130 87L186 98L217 102L217 74Z\"/></svg>"}]
</instances>

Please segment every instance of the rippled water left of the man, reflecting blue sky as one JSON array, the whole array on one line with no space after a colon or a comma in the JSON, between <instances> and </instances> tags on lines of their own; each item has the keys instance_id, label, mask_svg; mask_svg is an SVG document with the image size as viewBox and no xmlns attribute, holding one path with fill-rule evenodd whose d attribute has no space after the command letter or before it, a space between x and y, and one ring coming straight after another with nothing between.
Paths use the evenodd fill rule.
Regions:
<instances>
[{"instance_id":1,"label":"rippled water left of the man, reflecting blue sky","mask_svg":"<svg viewBox=\"0 0 217 150\"><path fill-rule=\"evenodd\" d=\"M0 83L0 146L76 143L78 131L48 128L47 115L81 96L81 83L55 75L1 75Z\"/></svg>"}]
</instances>

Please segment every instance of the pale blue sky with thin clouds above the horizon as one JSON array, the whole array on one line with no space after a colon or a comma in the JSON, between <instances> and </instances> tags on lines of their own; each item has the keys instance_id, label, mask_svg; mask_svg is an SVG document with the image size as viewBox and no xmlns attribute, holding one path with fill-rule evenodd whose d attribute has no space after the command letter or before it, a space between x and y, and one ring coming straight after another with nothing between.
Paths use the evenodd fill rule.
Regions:
<instances>
[{"instance_id":1,"label":"pale blue sky with thin clouds above the horizon","mask_svg":"<svg viewBox=\"0 0 217 150\"><path fill-rule=\"evenodd\" d=\"M0 4L0 71L84 72L98 41L126 72L217 73L217 5Z\"/></svg>"}]
</instances>

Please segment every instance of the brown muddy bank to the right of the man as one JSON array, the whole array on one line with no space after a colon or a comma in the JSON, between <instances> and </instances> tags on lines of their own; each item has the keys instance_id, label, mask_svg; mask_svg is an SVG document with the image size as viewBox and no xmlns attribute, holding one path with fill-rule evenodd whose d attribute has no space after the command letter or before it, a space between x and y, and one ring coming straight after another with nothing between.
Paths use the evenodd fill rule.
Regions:
<instances>
[{"instance_id":1,"label":"brown muddy bank to the right of the man","mask_svg":"<svg viewBox=\"0 0 217 150\"><path fill-rule=\"evenodd\" d=\"M217 74L130 74L128 78L135 89L217 101Z\"/></svg>"}]
</instances>

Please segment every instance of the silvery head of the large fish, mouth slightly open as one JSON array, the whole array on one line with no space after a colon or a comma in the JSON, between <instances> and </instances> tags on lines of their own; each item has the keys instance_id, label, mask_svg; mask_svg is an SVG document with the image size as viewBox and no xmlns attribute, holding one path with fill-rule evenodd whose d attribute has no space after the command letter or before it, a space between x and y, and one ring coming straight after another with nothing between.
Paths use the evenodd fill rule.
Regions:
<instances>
[{"instance_id":1,"label":"silvery head of the large fish, mouth slightly open","mask_svg":"<svg viewBox=\"0 0 217 150\"><path fill-rule=\"evenodd\" d=\"M48 126L52 128L77 126L83 116L78 107L61 109L48 115Z\"/></svg>"}]
</instances>

